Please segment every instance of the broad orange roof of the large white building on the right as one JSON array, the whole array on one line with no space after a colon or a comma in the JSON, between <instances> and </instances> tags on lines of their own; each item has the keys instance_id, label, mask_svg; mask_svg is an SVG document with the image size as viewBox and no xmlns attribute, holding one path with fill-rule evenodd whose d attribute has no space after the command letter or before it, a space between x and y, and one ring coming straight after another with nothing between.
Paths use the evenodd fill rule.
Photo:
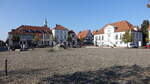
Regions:
<instances>
[{"instance_id":1,"label":"broad orange roof of the large white building on the right","mask_svg":"<svg viewBox=\"0 0 150 84\"><path fill-rule=\"evenodd\" d=\"M104 29L108 25L114 26L115 27L115 32L123 32L123 31L128 31L128 30L134 30L134 26L132 24L130 24L128 21L120 21L120 22L115 22L115 23L105 25L103 28L98 30L97 34L104 34Z\"/></svg>"}]
</instances>

